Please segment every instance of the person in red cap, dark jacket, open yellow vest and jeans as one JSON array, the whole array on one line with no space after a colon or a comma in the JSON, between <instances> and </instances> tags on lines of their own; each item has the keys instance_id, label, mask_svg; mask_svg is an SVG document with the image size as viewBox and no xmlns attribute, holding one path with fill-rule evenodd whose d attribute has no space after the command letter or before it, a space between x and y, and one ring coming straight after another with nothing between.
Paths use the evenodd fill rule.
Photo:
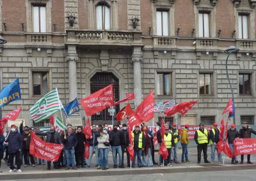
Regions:
<instances>
[{"instance_id":1,"label":"person in red cap, dark jacket, open yellow vest and jeans","mask_svg":"<svg viewBox=\"0 0 256 181\"><path fill-rule=\"evenodd\" d=\"M220 129L218 129L218 123L212 124L213 128L210 130L210 145L211 145L211 163L215 161L215 150L217 150L217 144L220 140ZM221 163L221 153L218 155L218 162Z\"/></svg>"}]
</instances>

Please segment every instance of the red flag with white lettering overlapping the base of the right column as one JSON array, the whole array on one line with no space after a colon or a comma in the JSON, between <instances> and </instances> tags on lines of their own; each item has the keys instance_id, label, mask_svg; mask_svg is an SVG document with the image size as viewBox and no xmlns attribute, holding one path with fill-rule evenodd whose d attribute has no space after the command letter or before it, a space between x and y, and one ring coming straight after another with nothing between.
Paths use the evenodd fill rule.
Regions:
<instances>
[{"instance_id":1,"label":"red flag with white lettering overlapping the base of the right column","mask_svg":"<svg viewBox=\"0 0 256 181\"><path fill-rule=\"evenodd\" d=\"M150 92L148 96L140 103L135 113L140 117L144 122L154 117L154 91Z\"/></svg>"}]
</instances>

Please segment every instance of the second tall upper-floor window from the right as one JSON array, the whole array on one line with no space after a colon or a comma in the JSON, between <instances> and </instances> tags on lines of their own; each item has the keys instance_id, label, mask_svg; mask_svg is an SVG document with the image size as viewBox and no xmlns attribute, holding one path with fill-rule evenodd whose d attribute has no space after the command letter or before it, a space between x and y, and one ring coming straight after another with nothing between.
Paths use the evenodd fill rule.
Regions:
<instances>
[{"instance_id":1,"label":"second tall upper-floor window from the right","mask_svg":"<svg viewBox=\"0 0 256 181\"><path fill-rule=\"evenodd\" d=\"M198 36L210 37L209 13L198 14Z\"/></svg>"}]
</instances>

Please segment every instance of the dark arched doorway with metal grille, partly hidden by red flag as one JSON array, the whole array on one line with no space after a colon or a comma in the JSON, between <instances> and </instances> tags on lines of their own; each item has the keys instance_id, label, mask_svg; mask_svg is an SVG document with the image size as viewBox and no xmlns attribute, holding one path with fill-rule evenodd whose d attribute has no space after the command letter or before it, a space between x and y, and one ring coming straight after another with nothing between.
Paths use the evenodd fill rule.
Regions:
<instances>
[{"instance_id":1,"label":"dark arched doorway with metal grille, partly hidden by red flag","mask_svg":"<svg viewBox=\"0 0 256 181\"><path fill-rule=\"evenodd\" d=\"M107 87L110 83L113 83L113 92L114 92L114 102L119 100L119 80L113 75L113 73L104 73L98 72L93 75L90 79L91 85L91 94L93 92L99 91L104 87ZM105 122L108 124L112 124L112 119L114 120L114 124L116 124L116 113L120 110L119 105L114 106L114 114L112 116L111 108L106 108L102 110L102 112L96 113L92 115L92 123L93 124L104 124Z\"/></svg>"}]
</instances>

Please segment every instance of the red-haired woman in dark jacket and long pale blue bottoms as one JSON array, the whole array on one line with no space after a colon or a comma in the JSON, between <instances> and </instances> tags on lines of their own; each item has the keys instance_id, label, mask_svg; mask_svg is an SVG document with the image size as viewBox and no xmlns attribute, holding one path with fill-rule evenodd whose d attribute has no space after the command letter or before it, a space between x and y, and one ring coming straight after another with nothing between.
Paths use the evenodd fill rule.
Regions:
<instances>
[{"instance_id":1,"label":"red-haired woman in dark jacket and long pale blue bottoms","mask_svg":"<svg viewBox=\"0 0 256 181\"><path fill-rule=\"evenodd\" d=\"M151 136L148 134L147 126L143 126L142 133L145 137L145 149L142 152L142 164L146 167L152 167L153 161L152 161L152 141Z\"/></svg>"}]
</instances>

